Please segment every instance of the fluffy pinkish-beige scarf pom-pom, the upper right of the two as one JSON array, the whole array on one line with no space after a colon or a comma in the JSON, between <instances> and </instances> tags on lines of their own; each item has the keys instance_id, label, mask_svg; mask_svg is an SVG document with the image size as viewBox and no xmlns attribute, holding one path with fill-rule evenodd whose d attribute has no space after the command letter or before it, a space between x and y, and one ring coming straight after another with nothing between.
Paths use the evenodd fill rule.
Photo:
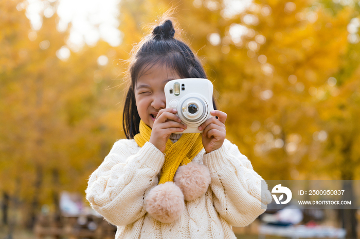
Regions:
<instances>
[{"instance_id":1,"label":"fluffy pinkish-beige scarf pom-pom, the upper right of the two","mask_svg":"<svg viewBox=\"0 0 360 239\"><path fill-rule=\"evenodd\" d=\"M182 190L185 200L191 201L206 192L211 176L205 165L190 162L177 169L174 182Z\"/></svg>"}]
</instances>

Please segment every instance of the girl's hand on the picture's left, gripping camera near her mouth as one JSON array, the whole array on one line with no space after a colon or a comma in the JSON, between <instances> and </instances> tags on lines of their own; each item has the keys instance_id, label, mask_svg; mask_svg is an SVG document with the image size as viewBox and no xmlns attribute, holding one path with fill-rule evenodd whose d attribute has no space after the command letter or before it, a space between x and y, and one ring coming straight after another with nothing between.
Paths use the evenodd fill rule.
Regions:
<instances>
[{"instance_id":1,"label":"girl's hand on the picture's left, gripping camera near her mouth","mask_svg":"<svg viewBox=\"0 0 360 239\"><path fill-rule=\"evenodd\" d=\"M176 111L170 108L159 110L153 124L149 142L163 153L170 134L183 132L187 128L186 125L180 123L180 118L175 115Z\"/></svg>"}]
</instances>

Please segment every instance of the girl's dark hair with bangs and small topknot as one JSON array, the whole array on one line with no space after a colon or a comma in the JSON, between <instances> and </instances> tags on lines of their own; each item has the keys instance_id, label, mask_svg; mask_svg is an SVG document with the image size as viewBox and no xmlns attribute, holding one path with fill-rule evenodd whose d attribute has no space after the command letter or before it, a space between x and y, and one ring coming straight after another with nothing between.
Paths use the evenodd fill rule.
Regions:
<instances>
[{"instance_id":1,"label":"girl's dark hair with bangs and small topknot","mask_svg":"<svg viewBox=\"0 0 360 239\"><path fill-rule=\"evenodd\" d=\"M133 48L128 72L129 86L122 114L122 127L128 139L139 133L140 116L135 102L135 85L145 69L166 66L182 78L207 78L199 59L184 42L174 39L172 21L167 19ZM213 108L215 106L212 99Z\"/></svg>"}]
</instances>

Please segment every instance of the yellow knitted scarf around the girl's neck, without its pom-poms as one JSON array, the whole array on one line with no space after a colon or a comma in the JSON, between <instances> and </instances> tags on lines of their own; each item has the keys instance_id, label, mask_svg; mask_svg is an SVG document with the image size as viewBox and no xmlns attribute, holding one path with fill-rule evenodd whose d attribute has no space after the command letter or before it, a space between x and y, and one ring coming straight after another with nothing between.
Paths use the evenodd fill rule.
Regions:
<instances>
[{"instance_id":1,"label":"yellow knitted scarf around the girl's neck, without its pom-poms","mask_svg":"<svg viewBox=\"0 0 360 239\"><path fill-rule=\"evenodd\" d=\"M142 147L150 141L151 128L141 120L139 131L140 133L134 136L134 140ZM185 133L175 144L169 139L166 142L165 162L159 184L173 181L177 168L190 163L202 149L203 142L200 133Z\"/></svg>"}]
</instances>

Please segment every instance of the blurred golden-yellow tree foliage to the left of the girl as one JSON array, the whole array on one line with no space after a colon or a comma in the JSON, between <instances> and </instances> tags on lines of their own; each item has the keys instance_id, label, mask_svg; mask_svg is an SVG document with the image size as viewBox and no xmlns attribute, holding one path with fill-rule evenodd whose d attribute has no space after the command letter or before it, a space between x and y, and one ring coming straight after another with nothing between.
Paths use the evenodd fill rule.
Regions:
<instances>
[{"instance_id":1,"label":"blurred golden-yellow tree foliage to the left of the girl","mask_svg":"<svg viewBox=\"0 0 360 239\"><path fill-rule=\"evenodd\" d=\"M58 206L60 191L84 192L88 175L123 134L121 88L106 91L118 85L117 49L99 42L70 52L57 15L43 17L34 30L23 4L0 3L0 181L6 182L0 191L31 226L41 205Z\"/></svg>"}]
</instances>

